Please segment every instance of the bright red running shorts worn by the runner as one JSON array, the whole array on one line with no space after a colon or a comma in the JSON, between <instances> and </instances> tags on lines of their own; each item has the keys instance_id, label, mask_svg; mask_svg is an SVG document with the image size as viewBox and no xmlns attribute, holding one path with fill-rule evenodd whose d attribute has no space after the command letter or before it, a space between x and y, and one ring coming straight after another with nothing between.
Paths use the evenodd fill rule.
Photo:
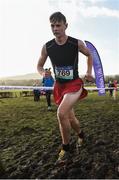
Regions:
<instances>
[{"instance_id":1,"label":"bright red running shorts worn by the runner","mask_svg":"<svg viewBox=\"0 0 119 180\"><path fill-rule=\"evenodd\" d=\"M55 82L54 91L53 91L55 103L59 105L65 94L71 93L71 92L77 92L81 89L81 87L83 88L83 86L84 86L84 83L82 79L80 78L66 82L66 83ZM84 97L87 96L87 94L88 94L87 90L83 88L79 99L83 99Z\"/></svg>"}]
</instances>

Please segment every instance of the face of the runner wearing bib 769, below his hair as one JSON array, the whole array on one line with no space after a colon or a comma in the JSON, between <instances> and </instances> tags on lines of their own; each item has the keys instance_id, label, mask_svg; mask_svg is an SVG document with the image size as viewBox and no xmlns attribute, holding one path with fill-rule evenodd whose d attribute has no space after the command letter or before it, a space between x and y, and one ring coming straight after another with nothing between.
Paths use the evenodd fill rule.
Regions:
<instances>
[{"instance_id":1,"label":"face of the runner wearing bib 769, below his hair","mask_svg":"<svg viewBox=\"0 0 119 180\"><path fill-rule=\"evenodd\" d=\"M51 29L56 38L60 38L63 35L65 35L67 25L61 21L61 22L51 22Z\"/></svg>"}]
</instances>

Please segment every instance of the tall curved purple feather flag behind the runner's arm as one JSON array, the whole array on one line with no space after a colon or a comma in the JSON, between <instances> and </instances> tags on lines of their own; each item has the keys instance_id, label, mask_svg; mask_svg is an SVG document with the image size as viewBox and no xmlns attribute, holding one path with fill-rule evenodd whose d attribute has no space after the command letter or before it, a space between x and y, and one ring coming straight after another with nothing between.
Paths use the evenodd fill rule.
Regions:
<instances>
[{"instance_id":1,"label":"tall curved purple feather flag behind the runner's arm","mask_svg":"<svg viewBox=\"0 0 119 180\"><path fill-rule=\"evenodd\" d=\"M94 67L94 73L95 73L95 79L96 79L96 86L97 88L99 88L98 94L100 96L105 95L104 73L103 73L103 67L102 67L99 53L91 42L85 41L85 43L86 43L86 46L90 49L90 52L93 57L93 67Z\"/></svg>"}]
</instances>

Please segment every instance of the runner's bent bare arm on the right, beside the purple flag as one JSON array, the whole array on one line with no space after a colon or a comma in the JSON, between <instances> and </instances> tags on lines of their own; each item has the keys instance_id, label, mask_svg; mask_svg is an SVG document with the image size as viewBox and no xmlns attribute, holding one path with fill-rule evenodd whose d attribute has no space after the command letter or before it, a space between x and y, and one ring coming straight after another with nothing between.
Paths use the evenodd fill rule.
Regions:
<instances>
[{"instance_id":1,"label":"runner's bent bare arm on the right, beside the purple flag","mask_svg":"<svg viewBox=\"0 0 119 180\"><path fill-rule=\"evenodd\" d=\"M93 59L92 59L92 55L89 51L89 49L85 46L85 44L83 43L83 41L79 40L78 41L78 48L79 51L84 54L85 56L87 56L87 71L86 71L86 75L85 78L88 81L93 81L93 77L92 77L92 65L93 65Z\"/></svg>"}]
</instances>

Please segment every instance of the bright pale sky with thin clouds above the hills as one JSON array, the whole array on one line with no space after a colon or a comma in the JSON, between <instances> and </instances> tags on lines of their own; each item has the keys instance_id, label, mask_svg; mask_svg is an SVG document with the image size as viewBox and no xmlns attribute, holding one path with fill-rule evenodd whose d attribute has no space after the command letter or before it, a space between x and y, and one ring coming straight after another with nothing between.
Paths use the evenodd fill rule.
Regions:
<instances>
[{"instance_id":1,"label":"bright pale sky with thin clouds above the hills","mask_svg":"<svg viewBox=\"0 0 119 180\"><path fill-rule=\"evenodd\" d=\"M95 45L105 75L119 74L119 0L0 0L0 77L37 73L55 11L66 16L67 35ZM86 72L81 54L79 72Z\"/></svg>"}]
</instances>

